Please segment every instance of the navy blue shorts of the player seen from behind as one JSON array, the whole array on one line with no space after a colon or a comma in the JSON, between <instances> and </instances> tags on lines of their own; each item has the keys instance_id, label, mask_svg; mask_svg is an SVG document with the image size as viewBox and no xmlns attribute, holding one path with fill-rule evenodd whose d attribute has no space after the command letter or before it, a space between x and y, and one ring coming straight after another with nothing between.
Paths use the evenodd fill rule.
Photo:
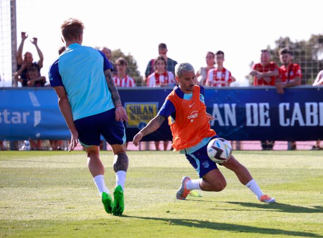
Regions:
<instances>
[{"instance_id":1,"label":"navy blue shorts of the player seen from behind","mask_svg":"<svg viewBox=\"0 0 323 238\"><path fill-rule=\"evenodd\" d=\"M123 123L115 120L115 108L74 120L74 124L79 142L85 147L100 145L100 135L109 144L124 144L126 142Z\"/></svg>"}]
</instances>

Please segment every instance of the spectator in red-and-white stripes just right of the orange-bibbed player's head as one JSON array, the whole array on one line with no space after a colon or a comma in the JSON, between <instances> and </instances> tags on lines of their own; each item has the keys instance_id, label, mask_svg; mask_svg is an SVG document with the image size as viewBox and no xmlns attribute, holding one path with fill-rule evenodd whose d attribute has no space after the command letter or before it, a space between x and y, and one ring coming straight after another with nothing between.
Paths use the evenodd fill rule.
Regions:
<instances>
[{"instance_id":1,"label":"spectator in red-and-white stripes just right of the orange-bibbed player's head","mask_svg":"<svg viewBox=\"0 0 323 238\"><path fill-rule=\"evenodd\" d=\"M208 71L206 86L230 86L235 81L235 78L231 75L230 71L223 67L224 52L218 50L215 53L215 58L217 67Z\"/></svg>"}]
</instances>

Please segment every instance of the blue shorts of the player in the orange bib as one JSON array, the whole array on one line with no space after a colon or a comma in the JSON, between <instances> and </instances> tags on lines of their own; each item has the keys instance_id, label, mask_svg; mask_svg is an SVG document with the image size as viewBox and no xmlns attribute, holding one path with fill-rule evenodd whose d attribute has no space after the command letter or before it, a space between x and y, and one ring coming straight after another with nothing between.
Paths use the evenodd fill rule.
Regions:
<instances>
[{"instance_id":1,"label":"blue shorts of the player in the orange bib","mask_svg":"<svg viewBox=\"0 0 323 238\"><path fill-rule=\"evenodd\" d=\"M219 136L213 136L211 140L218 137ZM215 162L208 157L208 144L191 154L185 154L185 156L189 163L195 168L200 178L206 175L209 171L218 168Z\"/></svg>"}]
</instances>

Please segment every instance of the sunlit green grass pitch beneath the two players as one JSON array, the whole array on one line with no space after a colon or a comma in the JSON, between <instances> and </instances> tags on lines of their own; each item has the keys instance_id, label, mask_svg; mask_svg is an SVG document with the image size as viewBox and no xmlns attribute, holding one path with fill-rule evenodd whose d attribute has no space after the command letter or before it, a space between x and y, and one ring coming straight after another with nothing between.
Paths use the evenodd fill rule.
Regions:
<instances>
[{"instance_id":1,"label":"sunlit green grass pitch beneath the two players","mask_svg":"<svg viewBox=\"0 0 323 238\"><path fill-rule=\"evenodd\" d=\"M86 154L0 151L0 237L323 237L322 151L235 151L276 204L256 200L224 167L221 192L175 199L184 155L128 152L122 216L106 214ZM112 152L102 152L113 191Z\"/></svg>"}]
</instances>

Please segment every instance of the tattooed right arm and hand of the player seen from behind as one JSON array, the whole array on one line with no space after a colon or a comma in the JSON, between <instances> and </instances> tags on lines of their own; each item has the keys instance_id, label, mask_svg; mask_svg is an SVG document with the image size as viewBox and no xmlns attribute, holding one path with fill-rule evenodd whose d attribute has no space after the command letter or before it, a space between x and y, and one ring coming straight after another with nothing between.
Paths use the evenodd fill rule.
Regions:
<instances>
[{"instance_id":1,"label":"tattooed right arm and hand of the player seen from behind","mask_svg":"<svg viewBox=\"0 0 323 238\"><path fill-rule=\"evenodd\" d=\"M115 119L117 121L128 121L126 110L122 107L119 93L115 87L115 81L113 81L111 70L104 71L105 79L107 81L108 89L111 93L113 103L115 104Z\"/></svg>"}]
</instances>

